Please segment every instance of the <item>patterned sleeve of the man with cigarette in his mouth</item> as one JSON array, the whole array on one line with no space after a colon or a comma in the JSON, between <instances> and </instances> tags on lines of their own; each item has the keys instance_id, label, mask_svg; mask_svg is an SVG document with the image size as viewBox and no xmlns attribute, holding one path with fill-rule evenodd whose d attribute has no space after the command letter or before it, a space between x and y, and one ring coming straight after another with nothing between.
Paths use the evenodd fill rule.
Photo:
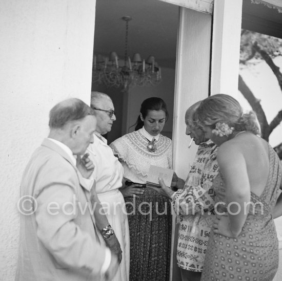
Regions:
<instances>
[{"instance_id":1,"label":"patterned sleeve of the man with cigarette in his mouth","mask_svg":"<svg viewBox=\"0 0 282 281\"><path fill-rule=\"evenodd\" d=\"M175 192L172 198L176 214L187 215L212 210L214 208L212 183L217 174L218 164L213 158L208 159L201 174L189 173L184 188ZM199 184L194 185L194 182Z\"/></svg>"}]
</instances>

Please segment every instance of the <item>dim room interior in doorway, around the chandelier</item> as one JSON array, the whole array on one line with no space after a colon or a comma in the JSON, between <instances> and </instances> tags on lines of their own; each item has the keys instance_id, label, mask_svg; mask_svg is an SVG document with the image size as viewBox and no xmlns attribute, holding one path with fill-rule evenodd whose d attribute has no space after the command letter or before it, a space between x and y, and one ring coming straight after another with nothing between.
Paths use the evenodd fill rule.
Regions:
<instances>
[{"instance_id":1,"label":"dim room interior in doorway, around the chandelier","mask_svg":"<svg viewBox=\"0 0 282 281\"><path fill-rule=\"evenodd\" d=\"M134 53L139 53L145 59L153 55L162 69L162 81L154 86L129 86L128 91L92 83L92 91L104 92L112 98L117 112L112 131L107 134L108 143L133 131L130 126L137 119L140 104L153 96L162 98L168 105L169 119L162 134L172 138L179 7L158 0L96 0L94 54L109 57L115 51L119 61L124 60L123 16L132 17L128 55L132 58Z\"/></svg>"}]
</instances>

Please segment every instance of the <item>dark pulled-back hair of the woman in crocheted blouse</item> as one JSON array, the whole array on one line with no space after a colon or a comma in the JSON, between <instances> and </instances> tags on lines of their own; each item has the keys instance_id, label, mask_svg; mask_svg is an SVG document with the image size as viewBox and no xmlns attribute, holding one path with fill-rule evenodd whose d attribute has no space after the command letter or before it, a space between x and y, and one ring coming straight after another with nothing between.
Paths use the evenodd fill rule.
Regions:
<instances>
[{"instance_id":1,"label":"dark pulled-back hair of the woman in crocheted blouse","mask_svg":"<svg viewBox=\"0 0 282 281\"><path fill-rule=\"evenodd\" d=\"M166 103L164 102L163 99L157 98L157 97L145 99L142 102L141 107L140 107L140 113L142 114L144 119L146 118L149 110L155 110L155 111L162 110L162 111L164 111L165 114L166 114L166 121L168 120L167 105L166 105ZM144 126L144 122L141 120L140 115L138 115L136 123L133 124L132 126L134 126L134 125L136 125L135 131L137 131L138 129L140 129Z\"/></svg>"}]
</instances>

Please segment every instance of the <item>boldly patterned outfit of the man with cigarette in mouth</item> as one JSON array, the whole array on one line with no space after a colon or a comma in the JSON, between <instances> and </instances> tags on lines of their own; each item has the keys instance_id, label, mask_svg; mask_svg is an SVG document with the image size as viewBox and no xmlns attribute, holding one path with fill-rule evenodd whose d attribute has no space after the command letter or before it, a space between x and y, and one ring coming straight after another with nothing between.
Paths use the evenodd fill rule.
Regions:
<instances>
[{"instance_id":1,"label":"boldly patterned outfit of the man with cigarette in mouth","mask_svg":"<svg viewBox=\"0 0 282 281\"><path fill-rule=\"evenodd\" d=\"M185 186L173 196L179 222L178 267L202 272L210 228L214 219L212 181L218 174L217 146L207 141L198 147Z\"/></svg>"}]
</instances>

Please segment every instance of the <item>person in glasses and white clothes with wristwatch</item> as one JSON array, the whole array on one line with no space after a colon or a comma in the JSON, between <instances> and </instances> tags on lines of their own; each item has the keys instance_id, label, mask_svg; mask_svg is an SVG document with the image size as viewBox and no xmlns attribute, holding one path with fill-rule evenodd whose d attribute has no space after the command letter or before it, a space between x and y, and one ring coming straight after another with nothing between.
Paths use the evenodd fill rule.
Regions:
<instances>
[{"instance_id":1,"label":"person in glasses and white clothes with wristwatch","mask_svg":"<svg viewBox=\"0 0 282 281\"><path fill-rule=\"evenodd\" d=\"M87 149L95 165L92 177L96 185L91 190L94 216L105 242L121 261L113 280L129 281L129 227L124 197L119 191L123 167L102 136L111 131L116 120L114 105L108 95L92 92L91 108L97 120L94 142Z\"/></svg>"}]
</instances>

